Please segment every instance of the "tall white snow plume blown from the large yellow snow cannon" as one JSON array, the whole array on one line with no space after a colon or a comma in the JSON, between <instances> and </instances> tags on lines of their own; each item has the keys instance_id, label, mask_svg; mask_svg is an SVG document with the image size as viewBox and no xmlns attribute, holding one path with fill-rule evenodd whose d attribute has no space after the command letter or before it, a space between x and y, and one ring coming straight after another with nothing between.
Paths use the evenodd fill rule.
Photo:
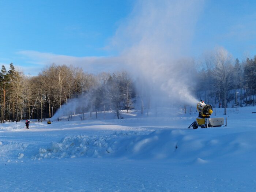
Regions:
<instances>
[{"instance_id":1,"label":"tall white snow plume blown from the large yellow snow cannon","mask_svg":"<svg viewBox=\"0 0 256 192\"><path fill-rule=\"evenodd\" d=\"M196 104L190 94L195 85L194 62L185 55L202 4L200 0L137 1L117 30L113 45L121 50L128 68L150 83L151 96L167 95L161 97L169 103Z\"/></svg>"}]
</instances>

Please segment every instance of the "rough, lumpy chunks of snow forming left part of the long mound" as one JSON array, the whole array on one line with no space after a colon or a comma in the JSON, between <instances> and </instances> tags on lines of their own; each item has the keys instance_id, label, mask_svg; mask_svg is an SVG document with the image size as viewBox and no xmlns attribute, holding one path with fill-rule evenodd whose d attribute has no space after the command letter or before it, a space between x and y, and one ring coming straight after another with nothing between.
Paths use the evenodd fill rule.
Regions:
<instances>
[{"instance_id":1,"label":"rough, lumpy chunks of snow forming left part of the long mound","mask_svg":"<svg viewBox=\"0 0 256 192\"><path fill-rule=\"evenodd\" d=\"M60 142L52 142L48 147L41 147L39 153L33 158L38 160L42 158L75 158L82 156L101 158L117 151L123 138L131 138L138 134L141 133L121 131L108 136L67 136Z\"/></svg>"}]
</instances>

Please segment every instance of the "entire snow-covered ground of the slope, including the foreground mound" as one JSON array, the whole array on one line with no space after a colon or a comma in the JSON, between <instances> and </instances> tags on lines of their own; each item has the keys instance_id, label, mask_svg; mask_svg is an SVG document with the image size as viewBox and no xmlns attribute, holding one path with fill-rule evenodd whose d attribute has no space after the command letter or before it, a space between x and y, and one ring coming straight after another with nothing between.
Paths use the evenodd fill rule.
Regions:
<instances>
[{"instance_id":1,"label":"entire snow-covered ground of the slope, including the foreground mound","mask_svg":"<svg viewBox=\"0 0 256 192\"><path fill-rule=\"evenodd\" d=\"M256 108L223 110L205 129L188 129L196 112L136 110L1 124L0 191L256 191Z\"/></svg>"}]
</instances>

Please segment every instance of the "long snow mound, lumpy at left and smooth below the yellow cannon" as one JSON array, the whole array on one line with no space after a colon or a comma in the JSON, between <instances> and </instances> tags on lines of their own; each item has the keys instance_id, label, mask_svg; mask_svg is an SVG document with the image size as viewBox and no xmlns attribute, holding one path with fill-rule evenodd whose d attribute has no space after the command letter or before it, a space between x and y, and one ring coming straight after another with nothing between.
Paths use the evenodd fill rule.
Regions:
<instances>
[{"instance_id":1,"label":"long snow mound, lumpy at left and smooth below the yellow cannon","mask_svg":"<svg viewBox=\"0 0 256 192\"><path fill-rule=\"evenodd\" d=\"M207 163L223 156L239 156L256 147L255 132L226 134L226 128L166 129L146 132L114 132L110 135L67 136L41 147L33 158L116 157L128 159L179 159ZM204 136L202 137L202 134ZM256 157L256 155L255 155Z\"/></svg>"}]
</instances>

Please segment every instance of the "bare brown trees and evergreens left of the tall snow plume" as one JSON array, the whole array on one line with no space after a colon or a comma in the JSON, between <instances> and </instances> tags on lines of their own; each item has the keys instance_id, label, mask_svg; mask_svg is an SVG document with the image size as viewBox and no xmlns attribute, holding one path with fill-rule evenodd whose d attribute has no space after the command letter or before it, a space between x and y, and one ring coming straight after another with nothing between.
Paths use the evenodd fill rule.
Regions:
<instances>
[{"instance_id":1,"label":"bare brown trees and evergreens left of the tall snow plume","mask_svg":"<svg viewBox=\"0 0 256 192\"><path fill-rule=\"evenodd\" d=\"M50 118L69 99L90 100L82 113L101 110L129 112L135 97L135 85L127 72L88 74L81 68L52 64L37 76L27 76L15 70L13 63L0 72L1 123L20 119ZM111 109L112 108L112 109Z\"/></svg>"}]
</instances>

